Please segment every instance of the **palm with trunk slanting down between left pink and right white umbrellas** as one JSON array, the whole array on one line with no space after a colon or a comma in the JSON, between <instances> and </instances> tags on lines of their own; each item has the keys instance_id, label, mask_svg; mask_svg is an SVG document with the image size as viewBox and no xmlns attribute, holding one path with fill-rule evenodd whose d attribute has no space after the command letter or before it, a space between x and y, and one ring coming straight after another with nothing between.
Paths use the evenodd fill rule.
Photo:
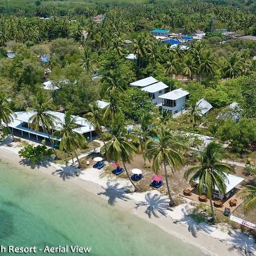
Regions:
<instances>
[{"instance_id":1,"label":"palm with trunk slanting down between left pink and right white umbrellas","mask_svg":"<svg viewBox=\"0 0 256 256\"><path fill-rule=\"evenodd\" d=\"M110 134L112 134L112 139L102 146L101 154L105 155L108 159L113 159L115 162L121 160L126 175L131 184L133 184L135 191L140 191L133 180L131 180L125 165L126 163L130 163L133 154L137 152L134 143L138 142L138 138L135 135L128 133L125 125L125 118L122 114L115 115L113 125L110 128Z\"/></svg>"}]
</instances>

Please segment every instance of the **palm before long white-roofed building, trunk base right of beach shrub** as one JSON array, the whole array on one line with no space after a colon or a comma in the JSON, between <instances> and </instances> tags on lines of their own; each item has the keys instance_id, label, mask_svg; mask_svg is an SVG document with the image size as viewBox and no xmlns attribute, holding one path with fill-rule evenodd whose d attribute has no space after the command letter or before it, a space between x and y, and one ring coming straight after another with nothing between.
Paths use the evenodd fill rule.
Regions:
<instances>
[{"instance_id":1,"label":"palm before long white-roofed building, trunk base right of beach shrub","mask_svg":"<svg viewBox=\"0 0 256 256\"><path fill-rule=\"evenodd\" d=\"M55 147L52 143L50 133L55 128L55 123L60 122L60 119L51 113L55 109L55 106L52 102L52 98L46 100L46 98L43 96L43 93L39 92L32 104L32 108L27 108L26 111L33 113L28 119L28 123L30 123L31 128L36 131L43 129L43 132L48 134L52 150L58 159L59 156L57 155Z\"/></svg>"}]
</instances>

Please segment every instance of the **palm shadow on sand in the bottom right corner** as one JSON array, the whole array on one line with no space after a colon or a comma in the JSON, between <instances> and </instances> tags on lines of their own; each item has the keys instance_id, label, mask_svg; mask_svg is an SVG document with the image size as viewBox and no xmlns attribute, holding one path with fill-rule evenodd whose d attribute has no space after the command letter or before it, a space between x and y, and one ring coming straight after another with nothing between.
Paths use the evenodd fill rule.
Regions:
<instances>
[{"instance_id":1,"label":"palm shadow on sand in the bottom right corner","mask_svg":"<svg viewBox=\"0 0 256 256\"><path fill-rule=\"evenodd\" d=\"M229 247L229 251L234 251L237 249L241 255L253 256L256 252L256 245L253 237L247 236L247 234L243 234L242 232L237 232L234 230L232 234L230 234L230 240L228 242L232 243Z\"/></svg>"}]
</instances>

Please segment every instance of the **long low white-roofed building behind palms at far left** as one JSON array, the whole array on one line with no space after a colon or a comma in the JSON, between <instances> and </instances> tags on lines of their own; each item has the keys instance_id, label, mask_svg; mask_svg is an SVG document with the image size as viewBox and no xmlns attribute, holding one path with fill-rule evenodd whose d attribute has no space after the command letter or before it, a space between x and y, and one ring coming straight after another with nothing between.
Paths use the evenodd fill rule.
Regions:
<instances>
[{"instance_id":1,"label":"long low white-roofed building behind palms at far left","mask_svg":"<svg viewBox=\"0 0 256 256\"><path fill-rule=\"evenodd\" d=\"M51 111L48 112L49 114L52 114L56 117L56 120L54 122L54 126L52 127L52 133L55 130L60 130L64 123L65 123L65 114L61 112L55 112ZM33 130L30 122L30 118L34 112L15 112L13 117L13 122L9 123L9 127L11 131L14 133L14 135L26 137L28 139L35 139L36 141L42 141L42 139L45 139L46 141L49 139L49 134L44 133L43 129L40 131ZM90 140L92 141L92 133L94 131L94 127L91 123L88 122L87 119L82 117L76 117L75 115L72 115L72 118L74 119L76 126L73 131L76 131L77 133L84 134L85 137L90 137ZM57 137L52 137L53 140L59 141Z\"/></svg>"}]
</instances>

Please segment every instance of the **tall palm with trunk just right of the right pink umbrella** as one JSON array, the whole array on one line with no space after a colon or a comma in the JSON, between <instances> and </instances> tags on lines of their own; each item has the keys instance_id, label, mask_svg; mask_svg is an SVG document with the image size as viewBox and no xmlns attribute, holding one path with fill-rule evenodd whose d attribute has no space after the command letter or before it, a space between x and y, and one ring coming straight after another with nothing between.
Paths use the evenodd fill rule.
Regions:
<instances>
[{"instance_id":1,"label":"tall palm with trunk just right of the right pink umbrella","mask_svg":"<svg viewBox=\"0 0 256 256\"><path fill-rule=\"evenodd\" d=\"M155 174L159 173L160 167L164 166L164 176L166 179L166 185L168 195L170 198L170 206L174 206L174 200L172 199L170 185L168 182L167 165L171 167L171 171L174 172L182 166L183 157L180 154L180 150L183 148L176 137L174 137L169 129L164 126L160 126L155 129L154 137L158 139L149 139L146 144L146 152L144 152L144 158L152 160L153 171Z\"/></svg>"}]
</instances>

